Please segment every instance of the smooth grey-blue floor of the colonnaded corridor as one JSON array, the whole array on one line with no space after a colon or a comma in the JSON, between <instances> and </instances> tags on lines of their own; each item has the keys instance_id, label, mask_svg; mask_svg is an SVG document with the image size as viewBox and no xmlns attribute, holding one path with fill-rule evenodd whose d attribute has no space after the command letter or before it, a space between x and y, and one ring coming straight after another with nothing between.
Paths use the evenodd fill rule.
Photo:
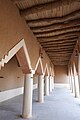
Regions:
<instances>
[{"instance_id":1,"label":"smooth grey-blue floor of the colonnaded corridor","mask_svg":"<svg viewBox=\"0 0 80 120\"><path fill-rule=\"evenodd\" d=\"M74 98L69 90L55 88L43 104L33 97L33 117L26 120L80 120L80 99ZM0 103L0 120L23 120L22 95Z\"/></svg>"}]
</instances>

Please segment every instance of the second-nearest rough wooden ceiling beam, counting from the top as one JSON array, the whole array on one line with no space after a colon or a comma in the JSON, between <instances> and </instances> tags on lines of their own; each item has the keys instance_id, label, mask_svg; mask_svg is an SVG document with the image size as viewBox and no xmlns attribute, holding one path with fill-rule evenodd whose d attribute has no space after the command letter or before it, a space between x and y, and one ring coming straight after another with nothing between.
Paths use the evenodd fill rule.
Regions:
<instances>
[{"instance_id":1,"label":"second-nearest rough wooden ceiling beam, counting from the top","mask_svg":"<svg viewBox=\"0 0 80 120\"><path fill-rule=\"evenodd\" d=\"M28 25L32 27L41 27L46 25L53 25L56 23L67 23L74 19L80 18L80 10L76 10L68 15L63 17L54 17L54 18L40 18L36 20L27 20Z\"/></svg>"}]
</instances>

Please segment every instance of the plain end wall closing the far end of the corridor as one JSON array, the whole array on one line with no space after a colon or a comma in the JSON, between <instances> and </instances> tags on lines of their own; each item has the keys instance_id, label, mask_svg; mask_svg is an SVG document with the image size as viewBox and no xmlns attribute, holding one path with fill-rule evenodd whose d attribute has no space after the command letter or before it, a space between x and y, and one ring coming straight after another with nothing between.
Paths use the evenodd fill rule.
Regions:
<instances>
[{"instance_id":1,"label":"plain end wall closing the far end of the corridor","mask_svg":"<svg viewBox=\"0 0 80 120\"><path fill-rule=\"evenodd\" d=\"M55 83L68 83L67 66L54 66Z\"/></svg>"}]
</instances>

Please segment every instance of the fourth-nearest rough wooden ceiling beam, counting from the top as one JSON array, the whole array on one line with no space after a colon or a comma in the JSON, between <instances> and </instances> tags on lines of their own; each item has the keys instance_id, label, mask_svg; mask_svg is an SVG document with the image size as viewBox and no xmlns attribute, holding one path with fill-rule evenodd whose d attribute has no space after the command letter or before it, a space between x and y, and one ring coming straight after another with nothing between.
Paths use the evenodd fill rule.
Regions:
<instances>
[{"instance_id":1,"label":"fourth-nearest rough wooden ceiling beam, counting from the top","mask_svg":"<svg viewBox=\"0 0 80 120\"><path fill-rule=\"evenodd\" d=\"M80 26L77 27L70 27L70 28L65 28L61 30L53 30L50 32L43 32L43 33L34 33L36 37L49 37L49 36L55 36L55 35L60 35L68 32L76 32L80 31Z\"/></svg>"}]
</instances>

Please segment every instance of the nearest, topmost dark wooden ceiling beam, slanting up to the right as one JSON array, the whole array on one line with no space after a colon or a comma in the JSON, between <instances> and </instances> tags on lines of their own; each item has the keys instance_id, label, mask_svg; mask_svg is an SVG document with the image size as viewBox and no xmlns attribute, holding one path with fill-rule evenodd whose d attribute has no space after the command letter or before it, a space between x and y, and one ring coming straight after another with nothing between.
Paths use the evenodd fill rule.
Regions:
<instances>
[{"instance_id":1,"label":"nearest, topmost dark wooden ceiling beam, slanting up to the right","mask_svg":"<svg viewBox=\"0 0 80 120\"><path fill-rule=\"evenodd\" d=\"M79 0L76 0L77 2L80 2ZM30 15L34 15L34 14L38 14L44 11L50 11L51 9L55 9L59 6L65 6L68 5L69 3L76 3L73 0L57 0L57 1L53 1L53 2L48 2L48 3L44 3L44 4L39 4L39 5L35 5L33 7L30 8L26 8L24 10L21 10L20 13L21 15L25 16L30 16Z\"/></svg>"}]
</instances>

